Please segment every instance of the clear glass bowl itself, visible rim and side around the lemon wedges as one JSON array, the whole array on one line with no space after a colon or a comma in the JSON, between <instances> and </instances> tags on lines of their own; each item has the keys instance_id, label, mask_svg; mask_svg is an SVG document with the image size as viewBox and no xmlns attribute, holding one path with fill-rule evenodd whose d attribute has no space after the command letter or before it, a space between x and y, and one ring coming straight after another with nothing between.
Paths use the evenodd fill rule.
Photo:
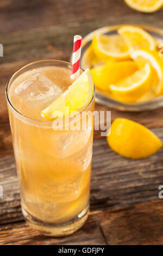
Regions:
<instances>
[{"instance_id":1,"label":"clear glass bowl itself, visible rim and side around the lemon wedges","mask_svg":"<svg viewBox=\"0 0 163 256\"><path fill-rule=\"evenodd\" d=\"M90 46L93 35L95 34L117 34L117 29L120 28L123 25L116 25L116 26L108 26L108 27L102 27L97 29L96 31L91 32L90 34L87 34L82 41L82 56L81 56L81 67L83 69L91 68L89 63L84 63L84 54L87 50L87 48ZM140 26L140 25L134 25L141 27L145 29L148 33L150 33L155 40L159 43L163 42L163 31L158 28L148 27L148 26ZM98 89L96 89L96 102L100 103L106 107L115 108L121 111L147 111L149 109L156 109L163 106L163 95L156 97L153 100L150 101L143 101L143 102L136 102L136 103L122 103L120 101L117 101L115 99L112 99L107 96L107 93L102 92Z\"/></svg>"}]
</instances>

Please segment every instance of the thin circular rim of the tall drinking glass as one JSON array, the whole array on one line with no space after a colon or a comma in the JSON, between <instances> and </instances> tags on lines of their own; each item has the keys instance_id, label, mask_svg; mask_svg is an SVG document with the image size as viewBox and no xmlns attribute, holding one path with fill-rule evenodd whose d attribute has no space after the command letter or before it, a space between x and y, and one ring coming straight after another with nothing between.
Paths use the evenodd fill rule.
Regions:
<instances>
[{"instance_id":1,"label":"thin circular rim of the tall drinking glass","mask_svg":"<svg viewBox=\"0 0 163 256\"><path fill-rule=\"evenodd\" d=\"M7 82L7 85L6 85L6 88L5 88L5 96L7 98L7 101L9 103L9 106L11 107L11 109L16 112L18 115L20 115L21 117L27 119L28 121L33 121L33 122L36 122L37 124L51 124L54 122L53 121L40 121L40 120L36 120L36 119L33 119L33 118L30 118L30 117L27 117L26 115L23 115L22 113L20 113L19 111L17 111L17 109L12 106L10 100L9 100L9 95L8 95L8 87L9 87L9 83L11 81L11 78L14 77L14 75L16 75L18 72L20 72L22 69L30 66L30 65L33 65L33 64L36 64L36 63L40 63L40 62L58 62L58 63L62 63L62 64L68 64L68 65L71 65L72 66L72 63L70 62L65 62L64 60L58 60L58 59L42 59L42 60L37 60L36 62L31 62L31 63L28 63L27 65L24 65L22 66L22 68L16 70L9 78L8 82ZM80 70L83 70L82 68L80 68ZM89 102L89 104L86 106L86 108L84 110L82 110L81 112L79 112L77 115L75 115L74 117L71 117L71 118L67 118L67 119L64 119L64 121L66 120L71 120L73 118L76 118L78 115L82 114L84 111L87 110L87 108L89 108L89 106L91 105L91 103L93 102L93 100L95 99L95 84L93 83L93 95L92 95L92 98Z\"/></svg>"}]
</instances>

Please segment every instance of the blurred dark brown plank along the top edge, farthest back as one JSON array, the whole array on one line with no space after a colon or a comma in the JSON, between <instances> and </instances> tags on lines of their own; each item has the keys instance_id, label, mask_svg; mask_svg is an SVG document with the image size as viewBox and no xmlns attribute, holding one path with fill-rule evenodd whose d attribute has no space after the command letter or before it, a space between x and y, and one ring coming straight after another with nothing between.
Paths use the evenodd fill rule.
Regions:
<instances>
[{"instance_id":1,"label":"blurred dark brown plank along the top edge, farthest back","mask_svg":"<svg viewBox=\"0 0 163 256\"><path fill-rule=\"evenodd\" d=\"M0 32L22 31L33 27L47 27L65 23L95 21L106 17L135 14L122 0L1 0ZM21 20L21 22L20 22ZM14 26L13 26L14 25Z\"/></svg>"}]
</instances>

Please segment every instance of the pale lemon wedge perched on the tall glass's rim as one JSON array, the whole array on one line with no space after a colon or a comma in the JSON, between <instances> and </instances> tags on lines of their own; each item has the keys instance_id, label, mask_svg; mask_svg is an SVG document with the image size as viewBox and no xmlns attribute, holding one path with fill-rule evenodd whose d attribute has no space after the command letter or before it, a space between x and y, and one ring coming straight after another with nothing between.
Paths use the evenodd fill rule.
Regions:
<instances>
[{"instance_id":1,"label":"pale lemon wedge perched on the tall glass's rim","mask_svg":"<svg viewBox=\"0 0 163 256\"><path fill-rule=\"evenodd\" d=\"M93 80L86 69L71 86L62 93L41 114L47 119L65 117L74 111L82 111L93 97Z\"/></svg>"}]
</instances>

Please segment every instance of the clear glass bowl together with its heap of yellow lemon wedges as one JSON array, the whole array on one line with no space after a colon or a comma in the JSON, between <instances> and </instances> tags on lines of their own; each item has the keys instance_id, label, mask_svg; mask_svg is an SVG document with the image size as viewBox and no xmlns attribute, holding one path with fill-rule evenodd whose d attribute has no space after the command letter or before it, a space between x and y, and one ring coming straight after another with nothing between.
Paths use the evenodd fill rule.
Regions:
<instances>
[{"instance_id":1,"label":"clear glass bowl together with its heap of yellow lemon wedges","mask_svg":"<svg viewBox=\"0 0 163 256\"><path fill-rule=\"evenodd\" d=\"M163 106L163 32L146 26L103 27L85 36L81 66L89 68L96 102L122 111Z\"/></svg>"}]
</instances>

